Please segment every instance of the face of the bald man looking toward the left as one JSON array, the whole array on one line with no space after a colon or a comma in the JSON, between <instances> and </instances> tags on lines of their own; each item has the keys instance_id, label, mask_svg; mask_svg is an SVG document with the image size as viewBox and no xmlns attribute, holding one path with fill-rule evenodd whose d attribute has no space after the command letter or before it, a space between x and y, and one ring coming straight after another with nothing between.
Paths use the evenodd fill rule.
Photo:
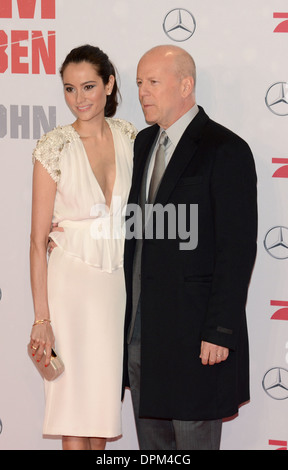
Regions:
<instances>
[{"instance_id":1,"label":"face of the bald man looking toward the left","mask_svg":"<svg viewBox=\"0 0 288 470\"><path fill-rule=\"evenodd\" d=\"M170 127L183 114L182 81L173 54L146 54L137 69L139 100L147 123Z\"/></svg>"}]
</instances>

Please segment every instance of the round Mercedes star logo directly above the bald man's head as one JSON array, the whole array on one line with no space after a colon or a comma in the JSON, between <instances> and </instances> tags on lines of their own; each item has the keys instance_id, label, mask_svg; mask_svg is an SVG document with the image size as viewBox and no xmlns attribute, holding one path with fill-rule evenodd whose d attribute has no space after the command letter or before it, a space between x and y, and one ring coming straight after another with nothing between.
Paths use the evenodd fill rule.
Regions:
<instances>
[{"instance_id":1,"label":"round Mercedes star logo directly above the bald man's head","mask_svg":"<svg viewBox=\"0 0 288 470\"><path fill-rule=\"evenodd\" d=\"M195 32L196 21L192 13L185 8L174 8L165 16L163 29L173 41L187 41Z\"/></svg>"}]
</instances>

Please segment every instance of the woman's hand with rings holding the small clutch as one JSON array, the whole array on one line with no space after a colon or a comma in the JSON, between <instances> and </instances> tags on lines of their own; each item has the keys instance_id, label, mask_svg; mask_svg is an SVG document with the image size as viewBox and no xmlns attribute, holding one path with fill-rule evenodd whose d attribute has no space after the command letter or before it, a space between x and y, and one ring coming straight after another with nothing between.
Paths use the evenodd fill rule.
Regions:
<instances>
[{"instance_id":1,"label":"woman's hand with rings holding the small clutch","mask_svg":"<svg viewBox=\"0 0 288 470\"><path fill-rule=\"evenodd\" d=\"M51 359L51 348L54 348L54 345L55 338L50 322L45 320L43 323L34 323L30 335L30 347L33 355L36 355L37 362L41 361L45 351L45 367L47 367Z\"/></svg>"}]
</instances>

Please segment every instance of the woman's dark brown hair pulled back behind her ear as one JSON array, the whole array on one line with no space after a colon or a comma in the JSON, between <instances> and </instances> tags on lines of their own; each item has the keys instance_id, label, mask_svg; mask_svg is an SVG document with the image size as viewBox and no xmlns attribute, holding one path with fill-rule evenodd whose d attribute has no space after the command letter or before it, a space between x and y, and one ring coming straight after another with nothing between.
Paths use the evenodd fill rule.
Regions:
<instances>
[{"instance_id":1,"label":"woman's dark brown hair pulled back behind her ear","mask_svg":"<svg viewBox=\"0 0 288 470\"><path fill-rule=\"evenodd\" d=\"M97 74L102 78L104 85L107 85L110 75L113 75L115 78L114 87L111 95L107 96L107 102L104 111L106 117L114 116L117 110L118 97L120 98L120 93L116 81L115 67L110 61L108 55L101 51L99 47L91 46L90 44L72 49L60 68L60 75L62 79L67 65L71 63L79 64L80 62L88 62L89 64L93 65Z\"/></svg>"}]
</instances>

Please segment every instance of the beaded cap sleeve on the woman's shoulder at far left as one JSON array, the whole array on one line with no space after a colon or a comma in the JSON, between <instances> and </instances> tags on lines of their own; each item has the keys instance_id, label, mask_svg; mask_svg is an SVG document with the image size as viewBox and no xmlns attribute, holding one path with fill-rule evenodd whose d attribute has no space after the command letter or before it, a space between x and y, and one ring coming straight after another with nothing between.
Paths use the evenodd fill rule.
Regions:
<instances>
[{"instance_id":1,"label":"beaded cap sleeve on the woman's shoulder at far left","mask_svg":"<svg viewBox=\"0 0 288 470\"><path fill-rule=\"evenodd\" d=\"M79 139L75 129L68 126L58 126L38 140L32 155L33 164L38 160L48 171L51 178L58 183L61 177L60 160L64 147Z\"/></svg>"}]
</instances>

